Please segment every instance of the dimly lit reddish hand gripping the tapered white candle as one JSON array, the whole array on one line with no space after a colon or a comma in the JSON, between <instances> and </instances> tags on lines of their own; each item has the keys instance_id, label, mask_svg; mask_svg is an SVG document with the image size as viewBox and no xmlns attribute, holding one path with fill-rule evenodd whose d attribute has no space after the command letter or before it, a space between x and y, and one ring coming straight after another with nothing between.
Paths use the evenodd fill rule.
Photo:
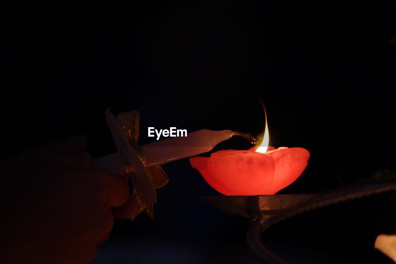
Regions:
<instances>
[{"instance_id":1,"label":"dimly lit reddish hand gripping the tapered white candle","mask_svg":"<svg viewBox=\"0 0 396 264\"><path fill-rule=\"evenodd\" d=\"M90 168L86 143L80 136L0 164L1 263L87 263L114 217L136 213L126 178Z\"/></svg>"}]
</instances>

